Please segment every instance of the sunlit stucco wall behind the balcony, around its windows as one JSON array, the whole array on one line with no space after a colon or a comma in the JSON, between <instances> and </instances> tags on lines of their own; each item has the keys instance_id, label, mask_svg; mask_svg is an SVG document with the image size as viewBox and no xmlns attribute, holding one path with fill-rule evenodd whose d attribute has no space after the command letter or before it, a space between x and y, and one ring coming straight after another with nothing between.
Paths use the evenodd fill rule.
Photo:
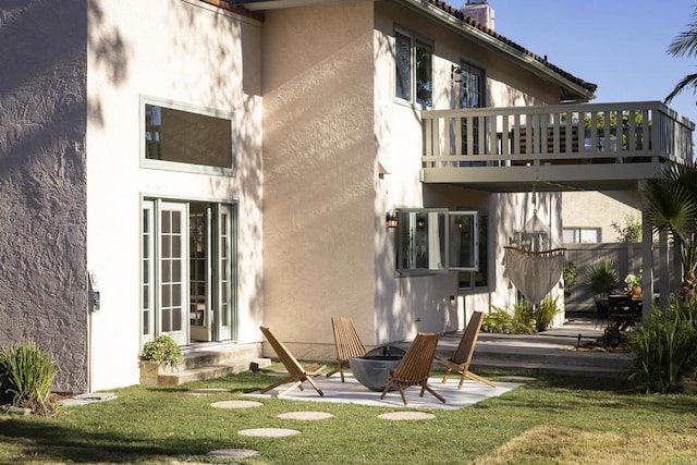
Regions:
<instances>
[{"instance_id":1,"label":"sunlit stucco wall behind the balcony, around its windows","mask_svg":"<svg viewBox=\"0 0 697 465\"><path fill-rule=\"evenodd\" d=\"M394 276L393 232L381 233L376 249L376 320L378 341L413 336L416 331L453 331L463 328L474 310L491 306L512 308L515 289L510 287L501 266L502 246L515 229L533 216L530 194L490 194L452 186L423 185L418 171L421 157L420 112L394 100L393 32L411 30L433 44L433 108L454 109L457 88L452 65L467 61L485 70L487 106L508 107L559 103L555 86L541 82L512 61L455 34L435 21L425 20L394 1L375 3L376 26L376 150L380 166L390 174L377 181L376 212L395 207L468 208L489 212L490 290L468 291L455 301L456 273L418 278ZM561 238L559 194L538 196L539 215ZM561 299L560 299L561 303Z\"/></svg>"}]
</instances>

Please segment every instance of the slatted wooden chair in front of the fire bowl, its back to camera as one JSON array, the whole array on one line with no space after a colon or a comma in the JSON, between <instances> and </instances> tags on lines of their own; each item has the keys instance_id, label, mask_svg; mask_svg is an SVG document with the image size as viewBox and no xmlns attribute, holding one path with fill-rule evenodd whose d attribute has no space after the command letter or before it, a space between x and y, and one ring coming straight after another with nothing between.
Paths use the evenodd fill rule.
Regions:
<instances>
[{"instance_id":1,"label":"slatted wooden chair in front of the fire bowl, its back to camera","mask_svg":"<svg viewBox=\"0 0 697 465\"><path fill-rule=\"evenodd\" d=\"M424 396L424 391L428 391L443 404L445 403L445 399L428 386L428 376L431 372L431 364L433 363L438 338L439 334L437 332L419 332L416 334L414 342L412 342L412 345L407 348L400 365L391 369L388 374L388 382L380 399L384 399L384 395L394 386L400 390L402 402L406 405L404 388L420 386L421 393L419 397Z\"/></svg>"}]
</instances>

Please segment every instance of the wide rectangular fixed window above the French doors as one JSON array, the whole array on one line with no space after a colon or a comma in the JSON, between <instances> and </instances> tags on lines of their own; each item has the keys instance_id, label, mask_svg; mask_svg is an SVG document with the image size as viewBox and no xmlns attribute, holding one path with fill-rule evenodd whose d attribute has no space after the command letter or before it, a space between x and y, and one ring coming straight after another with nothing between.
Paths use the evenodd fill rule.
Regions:
<instances>
[{"instance_id":1,"label":"wide rectangular fixed window above the French doors","mask_svg":"<svg viewBox=\"0 0 697 465\"><path fill-rule=\"evenodd\" d=\"M232 113L155 100L142 107L143 167L234 174Z\"/></svg>"}]
</instances>

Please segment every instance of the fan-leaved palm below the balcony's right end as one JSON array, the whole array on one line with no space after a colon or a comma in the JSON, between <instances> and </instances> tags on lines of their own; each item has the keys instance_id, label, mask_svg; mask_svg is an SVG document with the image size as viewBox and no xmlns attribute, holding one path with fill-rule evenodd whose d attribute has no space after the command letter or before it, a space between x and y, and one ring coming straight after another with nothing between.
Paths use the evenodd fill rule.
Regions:
<instances>
[{"instance_id":1,"label":"fan-leaved palm below the balcony's right end","mask_svg":"<svg viewBox=\"0 0 697 465\"><path fill-rule=\"evenodd\" d=\"M697 168L673 163L643 192L653 232L667 231L683 265L681 297L695 295L697 268Z\"/></svg>"}]
</instances>

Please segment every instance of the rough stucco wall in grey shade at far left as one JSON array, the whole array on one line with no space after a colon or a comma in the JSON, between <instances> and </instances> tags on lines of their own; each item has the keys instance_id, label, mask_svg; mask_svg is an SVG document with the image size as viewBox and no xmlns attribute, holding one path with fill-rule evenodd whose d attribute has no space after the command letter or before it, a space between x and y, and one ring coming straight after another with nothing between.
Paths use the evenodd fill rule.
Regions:
<instances>
[{"instance_id":1,"label":"rough stucco wall in grey shade at far left","mask_svg":"<svg viewBox=\"0 0 697 465\"><path fill-rule=\"evenodd\" d=\"M87 388L85 0L0 7L0 346Z\"/></svg>"}]
</instances>

